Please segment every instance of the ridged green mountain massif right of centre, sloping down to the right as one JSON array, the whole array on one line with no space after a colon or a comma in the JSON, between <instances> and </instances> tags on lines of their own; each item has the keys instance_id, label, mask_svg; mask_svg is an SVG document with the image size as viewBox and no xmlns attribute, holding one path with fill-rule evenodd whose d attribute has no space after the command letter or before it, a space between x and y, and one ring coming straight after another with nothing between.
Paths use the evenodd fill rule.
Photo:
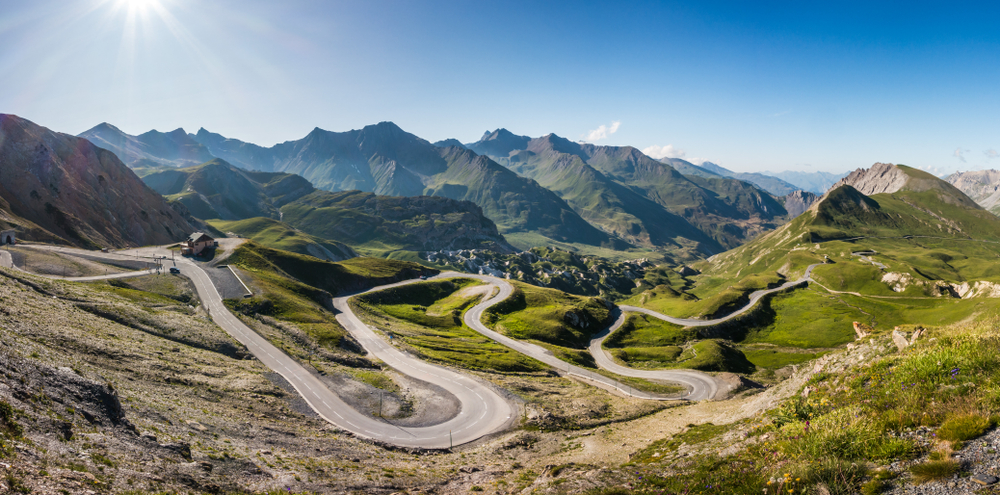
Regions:
<instances>
[{"instance_id":1,"label":"ridged green mountain massif right of centre, sloping down to the right","mask_svg":"<svg viewBox=\"0 0 1000 495\"><path fill-rule=\"evenodd\" d=\"M510 146L494 141L505 133L498 130L467 146L502 152ZM491 156L555 191L591 223L640 245L717 253L774 228L786 215L774 198L750 184L711 173L685 177L628 146L576 143L550 134Z\"/></svg>"}]
</instances>

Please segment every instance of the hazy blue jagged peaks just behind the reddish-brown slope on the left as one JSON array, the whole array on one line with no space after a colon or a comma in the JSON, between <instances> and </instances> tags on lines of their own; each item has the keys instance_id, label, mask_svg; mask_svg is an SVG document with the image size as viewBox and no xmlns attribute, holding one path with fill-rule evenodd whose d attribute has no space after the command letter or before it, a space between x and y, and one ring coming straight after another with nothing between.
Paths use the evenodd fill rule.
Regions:
<instances>
[{"instance_id":1,"label":"hazy blue jagged peaks just behind the reddish-brown slope on the left","mask_svg":"<svg viewBox=\"0 0 1000 495\"><path fill-rule=\"evenodd\" d=\"M111 124L103 123L78 137L113 152L132 168L185 167L213 158L208 148L191 139L184 129L167 133L149 131L131 136Z\"/></svg>"}]
</instances>

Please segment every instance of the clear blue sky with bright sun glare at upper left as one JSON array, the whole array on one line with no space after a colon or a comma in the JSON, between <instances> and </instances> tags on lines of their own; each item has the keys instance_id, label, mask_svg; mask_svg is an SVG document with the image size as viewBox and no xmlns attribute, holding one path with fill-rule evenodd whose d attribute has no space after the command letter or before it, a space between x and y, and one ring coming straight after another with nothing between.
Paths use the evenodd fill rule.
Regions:
<instances>
[{"instance_id":1,"label":"clear blue sky with bright sun glare at upper left","mask_svg":"<svg viewBox=\"0 0 1000 495\"><path fill-rule=\"evenodd\" d=\"M391 120L738 171L1000 168L998 9L815 4L0 0L0 112L262 145Z\"/></svg>"}]
</instances>

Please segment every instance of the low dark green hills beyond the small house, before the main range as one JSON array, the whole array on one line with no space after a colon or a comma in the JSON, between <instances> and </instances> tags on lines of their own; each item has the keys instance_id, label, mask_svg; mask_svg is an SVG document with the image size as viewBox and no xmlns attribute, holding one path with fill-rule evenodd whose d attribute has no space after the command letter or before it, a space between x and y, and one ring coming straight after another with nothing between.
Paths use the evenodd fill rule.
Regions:
<instances>
[{"instance_id":1,"label":"low dark green hills beyond the small house, before the main range","mask_svg":"<svg viewBox=\"0 0 1000 495\"><path fill-rule=\"evenodd\" d=\"M349 256L337 241L380 251L512 250L482 209L466 201L330 193L295 174L241 170L218 158L143 180L200 218L230 220L213 220L218 228L319 258Z\"/></svg>"}]
</instances>

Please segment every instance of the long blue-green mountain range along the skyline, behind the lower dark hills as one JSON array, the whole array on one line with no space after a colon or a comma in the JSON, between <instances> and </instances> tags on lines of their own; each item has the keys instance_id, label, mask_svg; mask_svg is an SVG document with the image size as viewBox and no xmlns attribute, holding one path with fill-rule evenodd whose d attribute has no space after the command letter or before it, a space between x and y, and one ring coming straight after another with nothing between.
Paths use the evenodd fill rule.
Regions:
<instances>
[{"instance_id":1,"label":"long blue-green mountain range along the skyline, behind the lower dark hills","mask_svg":"<svg viewBox=\"0 0 1000 495\"><path fill-rule=\"evenodd\" d=\"M530 243L550 239L703 256L737 246L788 219L782 201L745 181L685 176L632 147L581 144L554 134L529 138L497 129L476 143L432 144L382 122L347 132L317 128L303 139L269 148L205 129L130 136L101 124L81 136L106 143L127 162L145 167L150 184L213 218L250 213L218 203L221 209L207 210L200 198L212 196L223 184L188 184L185 192L179 176L164 166L210 156L245 170L298 174L321 190L472 201L502 233L541 236ZM165 143L175 148L164 149L169 147ZM234 185L230 192L251 190ZM275 213L254 208L258 216Z\"/></svg>"}]
</instances>

